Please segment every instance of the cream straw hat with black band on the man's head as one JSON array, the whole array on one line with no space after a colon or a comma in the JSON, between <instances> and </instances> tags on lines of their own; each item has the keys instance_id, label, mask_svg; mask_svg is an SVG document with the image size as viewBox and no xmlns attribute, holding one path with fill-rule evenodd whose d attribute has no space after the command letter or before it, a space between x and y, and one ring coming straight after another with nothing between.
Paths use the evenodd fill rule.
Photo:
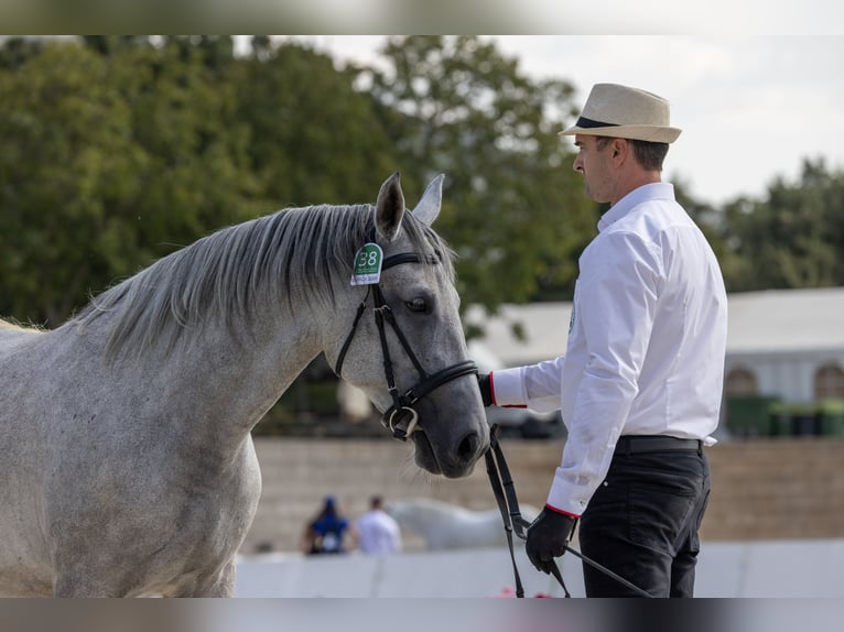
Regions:
<instances>
[{"instance_id":1,"label":"cream straw hat with black band on the man's head","mask_svg":"<svg viewBox=\"0 0 844 632\"><path fill-rule=\"evenodd\" d=\"M588 134L672 143L681 130L670 127L668 101L618 84L595 84L583 113L561 137Z\"/></svg>"}]
</instances>

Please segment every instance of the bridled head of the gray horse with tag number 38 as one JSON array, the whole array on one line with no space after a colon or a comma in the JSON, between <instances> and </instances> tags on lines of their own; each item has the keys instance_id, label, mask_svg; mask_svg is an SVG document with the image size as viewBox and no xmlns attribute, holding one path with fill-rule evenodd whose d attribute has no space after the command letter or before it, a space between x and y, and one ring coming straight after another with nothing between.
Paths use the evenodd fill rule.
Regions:
<instances>
[{"instance_id":1,"label":"bridled head of the gray horse with tag number 38","mask_svg":"<svg viewBox=\"0 0 844 632\"><path fill-rule=\"evenodd\" d=\"M486 451L489 431L451 251L431 228L442 182L434 178L410 211L399 174L383 183L371 236L377 248L359 251L377 270L364 281L353 277L356 316L325 353L337 374L369 395L393 436L413 440L416 465L457 478Z\"/></svg>"}]
</instances>

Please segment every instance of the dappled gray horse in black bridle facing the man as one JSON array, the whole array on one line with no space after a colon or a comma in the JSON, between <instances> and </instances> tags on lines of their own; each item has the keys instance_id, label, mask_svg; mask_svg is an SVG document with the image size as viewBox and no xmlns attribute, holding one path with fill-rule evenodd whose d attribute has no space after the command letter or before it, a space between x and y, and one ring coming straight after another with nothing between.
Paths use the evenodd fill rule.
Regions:
<instances>
[{"instance_id":1,"label":"dappled gray horse in black bridle facing the man","mask_svg":"<svg viewBox=\"0 0 844 632\"><path fill-rule=\"evenodd\" d=\"M205 237L54 330L2 323L0 595L230 596L261 492L250 431L321 352L420 467L468 475L488 429L441 196L442 176L405 211L394 174L375 207ZM353 285L366 242L380 280Z\"/></svg>"}]
</instances>

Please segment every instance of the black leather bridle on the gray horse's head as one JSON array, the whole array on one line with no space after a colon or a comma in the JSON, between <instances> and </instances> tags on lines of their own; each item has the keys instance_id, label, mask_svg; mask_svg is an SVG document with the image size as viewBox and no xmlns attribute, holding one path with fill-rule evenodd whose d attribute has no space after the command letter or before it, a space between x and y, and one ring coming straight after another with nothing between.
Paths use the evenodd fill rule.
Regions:
<instances>
[{"instance_id":1,"label":"black leather bridle on the gray horse's head","mask_svg":"<svg viewBox=\"0 0 844 632\"><path fill-rule=\"evenodd\" d=\"M426 263L430 265L436 265L440 263L440 257L433 254L419 254L416 252L402 252L399 254L392 254L383 260L381 270L388 270L402 263ZM381 425L385 428L392 431L392 436L397 439L407 440L411 433L416 431L416 422L419 414L413 408L419 400L428 395L434 389L442 386L443 384L462 378L463 375L477 374L478 368L472 360L464 360L457 362L451 367L446 367L435 373L428 373L424 370L419 359L416 359L413 349L411 349L408 339L396 323L396 317L390 309L390 306L383 298L381 287L378 283L372 283L368 286L367 293L360 305L357 308L355 320L351 324L351 330L346 337L346 341L343 344L339 356L337 357L337 363L334 368L334 372L342 377L340 371L343 369L343 361L346 358L346 352L351 345L351 339L355 337L360 317L366 310L369 295L372 295L372 312L375 313L375 323L378 327L378 335L381 339L381 352L383 355L383 374L387 379L387 390L392 397L392 406L390 406L381 416ZM413 362L416 372L419 373L419 382L415 385L408 389L403 395L399 394L399 390L396 386L396 377L392 372L392 360L390 359L390 349L387 345L387 331L385 328L385 322L389 323L396 336L399 338L399 342L404 348L404 352Z\"/></svg>"}]
</instances>

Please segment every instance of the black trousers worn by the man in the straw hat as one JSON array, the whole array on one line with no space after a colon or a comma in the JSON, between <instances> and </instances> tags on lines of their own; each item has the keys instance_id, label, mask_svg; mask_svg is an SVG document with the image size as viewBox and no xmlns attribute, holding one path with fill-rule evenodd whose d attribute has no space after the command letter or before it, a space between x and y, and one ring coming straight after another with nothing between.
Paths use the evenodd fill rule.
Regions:
<instances>
[{"instance_id":1,"label":"black trousers worn by the man in the straw hat","mask_svg":"<svg viewBox=\"0 0 844 632\"><path fill-rule=\"evenodd\" d=\"M581 552L652 597L693 597L710 489L703 449L638 451L619 442L581 517ZM583 576L587 597L636 596L585 563Z\"/></svg>"}]
</instances>

